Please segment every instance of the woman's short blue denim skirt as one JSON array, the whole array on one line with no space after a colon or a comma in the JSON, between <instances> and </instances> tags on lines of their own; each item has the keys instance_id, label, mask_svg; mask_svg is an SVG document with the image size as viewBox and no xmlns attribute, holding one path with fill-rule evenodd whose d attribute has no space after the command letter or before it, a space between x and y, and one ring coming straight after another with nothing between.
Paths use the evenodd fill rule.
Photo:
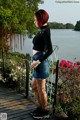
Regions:
<instances>
[{"instance_id":1,"label":"woman's short blue denim skirt","mask_svg":"<svg viewBox=\"0 0 80 120\"><path fill-rule=\"evenodd\" d=\"M45 52L38 52L33 56L33 60L38 60ZM33 77L36 79L46 79L49 77L49 61L45 59L36 68L34 68Z\"/></svg>"}]
</instances>

